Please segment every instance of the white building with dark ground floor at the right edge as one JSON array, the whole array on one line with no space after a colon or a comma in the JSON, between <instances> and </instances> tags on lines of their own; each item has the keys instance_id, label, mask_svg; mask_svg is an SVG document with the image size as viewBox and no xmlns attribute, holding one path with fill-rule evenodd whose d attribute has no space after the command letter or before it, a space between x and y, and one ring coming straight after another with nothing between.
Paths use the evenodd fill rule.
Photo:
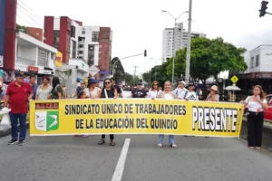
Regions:
<instances>
[{"instance_id":1,"label":"white building with dark ground floor at the right edge","mask_svg":"<svg viewBox=\"0 0 272 181\"><path fill-rule=\"evenodd\" d=\"M244 54L248 69L246 71L230 71L229 78L238 77L236 83L239 88L252 90L254 85L261 85L267 93L272 93L272 44L257 46Z\"/></svg>"}]
</instances>

